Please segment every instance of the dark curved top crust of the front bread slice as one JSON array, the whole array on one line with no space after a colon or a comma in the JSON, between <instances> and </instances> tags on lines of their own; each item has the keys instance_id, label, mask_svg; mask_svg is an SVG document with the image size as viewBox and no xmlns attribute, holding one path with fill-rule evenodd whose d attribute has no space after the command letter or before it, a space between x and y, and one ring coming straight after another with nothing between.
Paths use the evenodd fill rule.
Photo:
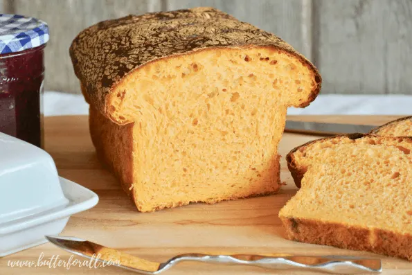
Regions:
<instances>
[{"instance_id":1,"label":"dark curved top crust of the front bread slice","mask_svg":"<svg viewBox=\"0 0 412 275\"><path fill-rule=\"evenodd\" d=\"M287 156L286 156L286 162L287 162L287 168L289 168L289 171L295 181L295 184L298 188L301 188L301 181L303 179L303 175L305 175L305 168L301 168L298 166L294 159L294 152L297 150L304 150L308 145L320 141L325 141L327 139L339 139L339 138L349 138L349 139L360 139L364 136L369 136L369 134L361 134L361 133L354 133L354 134L341 134L339 136L328 136L323 139L315 139L314 141L309 141L307 143L304 143L302 145L299 145L298 147L292 149Z\"/></svg>"}]
</instances>

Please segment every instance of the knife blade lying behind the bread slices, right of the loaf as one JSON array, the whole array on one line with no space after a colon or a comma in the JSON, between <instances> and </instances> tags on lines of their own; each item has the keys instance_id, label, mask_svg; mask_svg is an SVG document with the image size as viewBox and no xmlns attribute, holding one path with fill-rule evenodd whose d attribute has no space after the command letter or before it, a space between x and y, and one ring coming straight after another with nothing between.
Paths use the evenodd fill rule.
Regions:
<instances>
[{"instance_id":1,"label":"knife blade lying behind the bread slices, right of the loaf","mask_svg":"<svg viewBox=\"0 0 412 275\"><path fill-rule=\"evenodd\" d=\"M376 125L286 121L285 132L298 132L304 134L330 136L335 134L352 133L365 134L375 129L376 127Z\"/></svg>"}]
</instances>

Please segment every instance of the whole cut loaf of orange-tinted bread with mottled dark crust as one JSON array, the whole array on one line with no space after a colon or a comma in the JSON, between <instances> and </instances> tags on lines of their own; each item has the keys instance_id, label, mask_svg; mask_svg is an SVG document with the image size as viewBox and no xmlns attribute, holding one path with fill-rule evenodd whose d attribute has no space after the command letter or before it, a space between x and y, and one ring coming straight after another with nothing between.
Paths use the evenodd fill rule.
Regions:
<instances>
[{"instance_id":1,"label":"whole cut loaf of orange-tinted bread with mottled dark crust","mask_svg":"<svg viewBox=\"0 0 412 275\"><path fill-rule=\"evenodd\" d=\"M214 8L102 21L70 54L98 155L143 212L276 193L287 107L321 89L292 46Z\"/></svg>"}]
</instances>

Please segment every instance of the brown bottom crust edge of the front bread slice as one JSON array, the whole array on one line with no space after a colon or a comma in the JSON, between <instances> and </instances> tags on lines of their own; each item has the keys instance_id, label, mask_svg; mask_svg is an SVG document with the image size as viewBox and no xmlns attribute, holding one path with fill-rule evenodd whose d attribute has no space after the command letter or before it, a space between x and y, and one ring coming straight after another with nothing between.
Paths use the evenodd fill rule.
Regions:
<instances>
[{"instance_id":1,"label":"brown bottom crust edge of the front bread slice","mask_svg":"<svg viewBox=\"0 0 412 275\"><path fill-rule=\"evenodd\" d=\"M316 220L280 219L289 240L343 249L372 251L377 254L412 260L412 236L409 234L401 235L382 229L361 229Z\"/></svg>"}]
</instances>

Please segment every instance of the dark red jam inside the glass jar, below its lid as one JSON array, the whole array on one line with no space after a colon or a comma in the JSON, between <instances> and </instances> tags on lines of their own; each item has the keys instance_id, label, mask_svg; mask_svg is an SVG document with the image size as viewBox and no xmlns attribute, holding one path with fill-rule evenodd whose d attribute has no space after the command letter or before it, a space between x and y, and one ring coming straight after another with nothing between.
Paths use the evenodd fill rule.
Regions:
<instances>
[{"instance_id":1,"label":"dark red jam inside the glass jar, below its lid","mask_svg":"<svg viewBox=\"0 0 412 275\"><path fill-rule=\"evenodd\" d=\"M0 132L42 147L44 46L0 54Z\"/></svg>"}]
</instances>

